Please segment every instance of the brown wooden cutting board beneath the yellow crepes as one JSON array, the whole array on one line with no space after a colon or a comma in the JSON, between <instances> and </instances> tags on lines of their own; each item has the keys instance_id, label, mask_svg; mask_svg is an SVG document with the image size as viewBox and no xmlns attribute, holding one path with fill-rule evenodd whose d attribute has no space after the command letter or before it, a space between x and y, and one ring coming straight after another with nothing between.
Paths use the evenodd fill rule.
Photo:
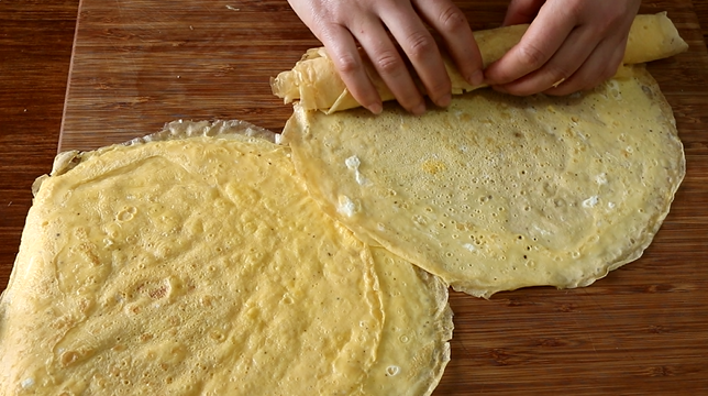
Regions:
<instances>
[{"instance_id":1,"label":"brown wooden cutting board beneath the yellow crepes","mask_svg":"<svg viewBox=\"0 0 708 396\"><path fill-rule=\"evenodd\" d=\"M473 28L507 1L458 1ZM708 55L688 0L668 11L689 52L650 70L687 158L644 256L587 288L455 294L452 362L435 395L708 394ZM59 150L90 150L175 119L242 119L280 131L291 110L269 77L319 43L285 0L82 0Z\"/></svg>"}]
</instances>

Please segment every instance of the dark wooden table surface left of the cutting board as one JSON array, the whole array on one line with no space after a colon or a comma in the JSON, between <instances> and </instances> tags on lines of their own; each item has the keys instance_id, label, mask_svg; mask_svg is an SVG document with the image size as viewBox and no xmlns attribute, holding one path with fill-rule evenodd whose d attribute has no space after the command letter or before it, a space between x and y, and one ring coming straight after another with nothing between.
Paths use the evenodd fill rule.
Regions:
<instances>
[{"instance_id":1,"label":"dark wooden table surface left of the cutting board","mask_svg":"<svg viewBox=\"0 0 708 396\"><path fill-rule=\"evenodd\" d=\"M32 183L56 155L77 9L78 0L0 1L0 290Z\"/></svg>"}]
</instances>

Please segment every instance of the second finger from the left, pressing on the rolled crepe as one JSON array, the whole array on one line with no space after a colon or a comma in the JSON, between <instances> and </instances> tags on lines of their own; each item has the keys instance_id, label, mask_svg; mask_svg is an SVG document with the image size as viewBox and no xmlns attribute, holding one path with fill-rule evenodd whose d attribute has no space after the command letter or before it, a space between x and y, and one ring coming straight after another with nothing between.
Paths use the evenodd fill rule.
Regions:
<instances>
[{"instance_id":1,"label":"second finger from the left, pressing on the rolled crepe","mask_svg":"<svg viewBox=\"0 0 708 396\"><path fill-rule=\"evenodd\" d=\"M398 102L413 114L425 112L423 97L380 22L365 22L352 32Z\"/></svg>"}]
</instances>

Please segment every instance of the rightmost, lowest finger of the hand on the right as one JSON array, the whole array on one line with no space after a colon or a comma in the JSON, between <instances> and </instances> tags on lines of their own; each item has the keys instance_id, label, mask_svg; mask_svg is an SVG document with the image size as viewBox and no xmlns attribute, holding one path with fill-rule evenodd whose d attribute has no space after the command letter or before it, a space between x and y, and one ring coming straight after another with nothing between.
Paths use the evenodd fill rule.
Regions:
<instances>
[{"instance_id":1,"label":"rightmost, lowest finger of the hand on the right","mask_svg":"<svg viewBox=\"0 0 708 396\"><path fill-rule=\"evenodd\" d=\"M600 42L583 66L571 78L557 87L547 89L544 94L553 96L569 95L579 90L594 88L612 78L622 63L626 45L626 43L618 44L611 40Z\"/></svg>"}]
</instances>

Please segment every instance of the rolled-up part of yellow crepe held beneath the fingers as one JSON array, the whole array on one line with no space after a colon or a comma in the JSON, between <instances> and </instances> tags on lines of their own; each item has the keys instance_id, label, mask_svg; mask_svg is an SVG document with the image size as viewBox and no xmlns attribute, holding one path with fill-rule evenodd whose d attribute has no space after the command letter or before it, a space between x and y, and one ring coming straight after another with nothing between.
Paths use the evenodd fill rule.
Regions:
<instances>
[{"instance_id":1,"label":"rolled-up part of yellow crepe held beneath the fingers","mask_svg":"<svg viewBox=\"0 0 708 396\"><path fill-rule=\"evenodd\" d=\"M521 41L529 25L513 25L474 32L482 53L484 66L498 61ZM688 48L665 12L653 15L637 15L632 23L623 63L639 64L670 57ZM386 87L370 61L362 54L366 72L378 90L381 100L391 100L394 95ZM445 68L452 82L452 92L463 94L477 88L460 74L450 57L443 54ZM324 48L312 48L296 64L292 70L283 72L272 79L273 94L286 103L299 100L303 109L320 109L328 113L359 107L339 77L334 64ZM420 84L419 84L420 86Z\"/></svg>"}]
</instances>

